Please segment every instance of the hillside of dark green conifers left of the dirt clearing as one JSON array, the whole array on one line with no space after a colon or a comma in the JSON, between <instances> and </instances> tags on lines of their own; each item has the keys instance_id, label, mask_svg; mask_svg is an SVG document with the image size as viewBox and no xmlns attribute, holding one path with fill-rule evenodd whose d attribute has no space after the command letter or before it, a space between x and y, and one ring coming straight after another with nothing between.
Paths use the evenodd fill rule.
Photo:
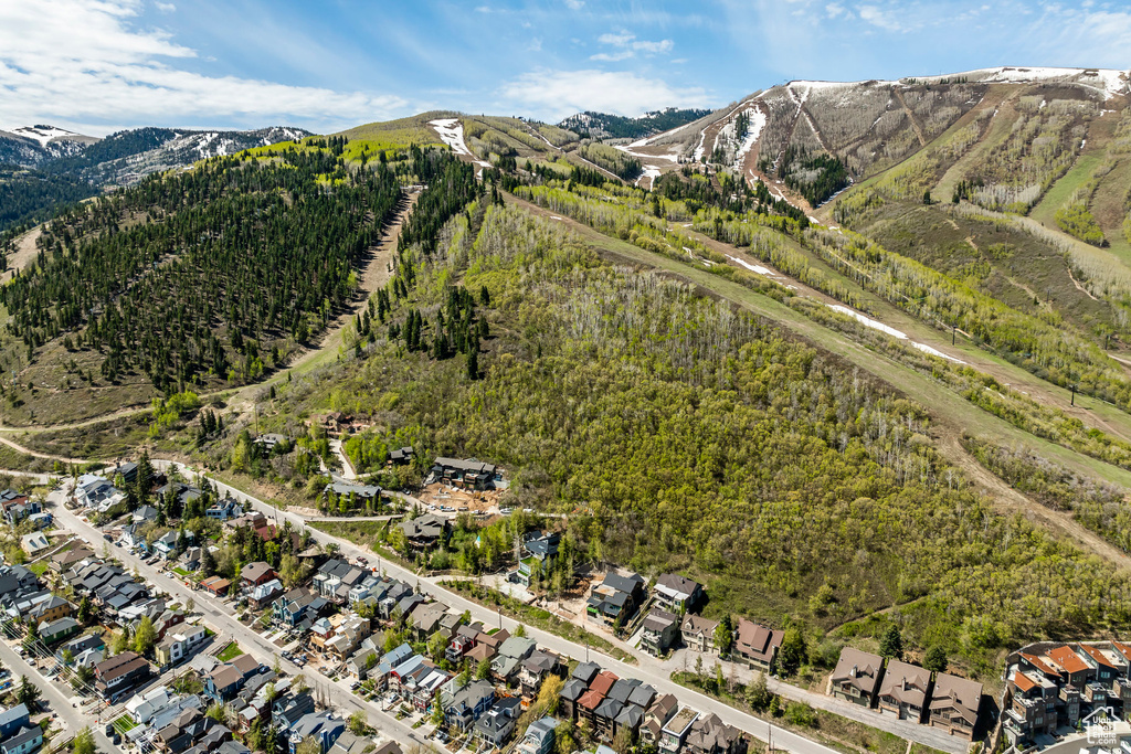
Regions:
<instances>
[{"instance_id":1,"label":"hillside of dark green conifers left of the dirt clearing","mask_svg":"<svg viewBox=\"0 0 1131 754\"><path fill-rule=\"evenodd\" d=\"M72 375L80 390L254 380L351 300L399 198L385 165L349 171L291 150L216 159L68 211L0 289L6 365ZM20 385L8 388L15 407Z\"/></svg>"}]
</instances>

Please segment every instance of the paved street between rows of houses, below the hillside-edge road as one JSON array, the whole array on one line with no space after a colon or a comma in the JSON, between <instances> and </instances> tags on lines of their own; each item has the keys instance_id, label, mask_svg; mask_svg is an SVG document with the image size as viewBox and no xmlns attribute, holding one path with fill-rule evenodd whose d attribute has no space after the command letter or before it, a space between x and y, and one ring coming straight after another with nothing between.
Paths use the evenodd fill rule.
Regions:
<instances>
[{"instance_id":1,"label":"paved street between rows of houses, below the hillside-edge road","mask_svg":"<svg viewBox=\"0 0 1131 754\"><path fill-rule=\"evenodd\" d=\"M58 491L52 492L48 497L49 502L55 504L55 520L64 521L71 531L79 537L85 538L88 543L97 545L100 541L103 541L102 531L97 530L74 511L68 510L66 505L63 505L63 494ZM210 624L216 631L223 633L225 636L230 636L239 642L243 651L248 652L260 662L270 667L274 666L276 659L278 659L282 662L283 669L288 674L302 674L309 681L312 690L319 692L320 695L327 696L333 707L342 710L345 717L348 717L355 711L362 711L369 717L371 725L375 725L379 730L402 744L413 746L415 744L428 743L423 736L417 735L415 730L404 725L391 714L382 712L377 704L366 702L365 700L355 696L353 692L349 691L345 682L335 683L310 666L300 668L293 662L283 660L283 658L278 655L279 648L264 639L264 636L250 626L236 621L227 603L208 598L207 595L197 592L192 588L187 587L180 579L171 578L171 572L161 572L157 567L145 563L140 557L131 554L130 551L123 547L113 547L111 549L113 557L121 561L124 569L131 572L137 570L137 572L141 574L141 578L145 579L150 587L170 593L176 599L180 599L182 604L185 604L189 599L193 600L196 604L196 610L204 616L206 623Z\"/></svg>"}]
</instances>

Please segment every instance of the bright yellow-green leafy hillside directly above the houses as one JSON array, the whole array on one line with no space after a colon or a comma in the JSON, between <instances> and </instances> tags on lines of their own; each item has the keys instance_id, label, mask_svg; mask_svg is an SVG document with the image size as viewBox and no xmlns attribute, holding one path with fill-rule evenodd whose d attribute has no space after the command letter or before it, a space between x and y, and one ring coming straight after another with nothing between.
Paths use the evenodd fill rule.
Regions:
<instances>
[{"instance_id":1,"label":"bright yellow-green leafy hillside directly above the houses","mask_svg":"<svg viewBox=\"0 0 1131 754\"><path fill-rule=\"evenodd\" d=\"M713 612L831 627L899 604L913 641L975 662L1128 621L1123 577L1093 599L1110 570L994 513L932 449L922 406L547 223L476 203L434 252L405 249L369 350L288 383L260 421L372 413L374 445L503 463L515 504L573 512L596 560L703 578ZM464 292L475 306L452 309ZM490 335L460 349L465 317ZM301 485L317 466L296 458L260 471Z\"/></svg>"}]
</instances>

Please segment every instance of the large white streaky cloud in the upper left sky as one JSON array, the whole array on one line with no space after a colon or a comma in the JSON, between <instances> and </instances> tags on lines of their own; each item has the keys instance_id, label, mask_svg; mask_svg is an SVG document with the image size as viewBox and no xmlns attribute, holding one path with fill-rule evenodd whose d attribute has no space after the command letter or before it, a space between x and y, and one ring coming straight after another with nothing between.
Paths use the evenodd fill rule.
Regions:
<instances>
[{"instance_id":1,"label":"large white streaky cloud in the upper left sky","mask_svg":"<svg viewBox=\"0 0 1131 754\"><path fill-rule=\"evenodd\" d=\"M8 124L345 124L385 119L407 105L390 95L185 70L196 51L164 31L135 28L141 8L141 0L0 3L0 98Z\"/></svg>"}]
</instances>

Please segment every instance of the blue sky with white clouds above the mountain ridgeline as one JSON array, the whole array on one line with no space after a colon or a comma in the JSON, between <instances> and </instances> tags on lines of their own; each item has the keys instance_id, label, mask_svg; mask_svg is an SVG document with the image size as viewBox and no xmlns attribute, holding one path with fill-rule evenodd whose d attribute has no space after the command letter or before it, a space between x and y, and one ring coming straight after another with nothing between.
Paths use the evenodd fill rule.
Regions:
<instances>
[{"instance_id":1,"label":"blue sky with white clouds above the mountain ridgeline","mask_svg":"<svg viewBox=\"0 0 1131 754\"><path fill-rule=\"evenodd\" d=\"M24 0L0 128L330 132L433 109L558 121L715 107L789 79L1131 67L1131 1Z\"/></svg>"}]
</instances>

